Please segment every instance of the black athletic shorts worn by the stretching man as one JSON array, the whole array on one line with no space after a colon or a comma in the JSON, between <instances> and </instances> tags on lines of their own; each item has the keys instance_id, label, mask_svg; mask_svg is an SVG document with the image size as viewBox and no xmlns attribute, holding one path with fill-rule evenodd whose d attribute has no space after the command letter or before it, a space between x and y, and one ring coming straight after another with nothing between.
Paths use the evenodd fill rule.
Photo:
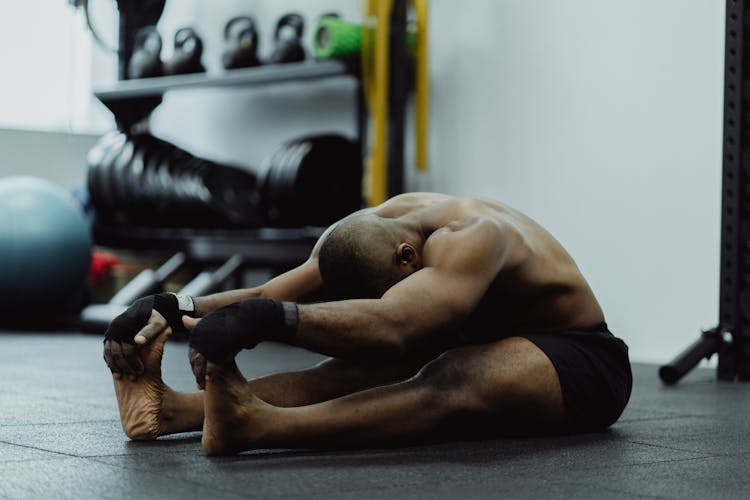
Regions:
<instances>
[{"instance_id":1,"label":"black athletic shorts worn by the stretching man","mask_svg":"<svg viewBox=\"0 0 750 500\"><path fill-rule=\"evenodd\" d=\"M628 346L606 323L585 331L521 334L552 361L565 404L563 432L606 429L630 399L633 375Z\"/></svg>"}]
</instances>

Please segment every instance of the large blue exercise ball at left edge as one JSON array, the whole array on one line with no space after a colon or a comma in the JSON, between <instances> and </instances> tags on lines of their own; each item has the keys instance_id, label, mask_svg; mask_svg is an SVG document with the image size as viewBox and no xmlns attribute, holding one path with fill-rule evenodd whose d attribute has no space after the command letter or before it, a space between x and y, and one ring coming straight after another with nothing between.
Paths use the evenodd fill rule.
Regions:
<instances>
[{"instance_id":1,"label":"large blue exercise ball at left edge","mask_svg":"<svg viewBox=\"0 0 750 500\"><path fill-rule=\"evenodd\" d=\"M91 247L71 193L37 177L0 178L0 313L33 312L29 319L43 322L80 308Z\"/></svg>"}]
</instances>

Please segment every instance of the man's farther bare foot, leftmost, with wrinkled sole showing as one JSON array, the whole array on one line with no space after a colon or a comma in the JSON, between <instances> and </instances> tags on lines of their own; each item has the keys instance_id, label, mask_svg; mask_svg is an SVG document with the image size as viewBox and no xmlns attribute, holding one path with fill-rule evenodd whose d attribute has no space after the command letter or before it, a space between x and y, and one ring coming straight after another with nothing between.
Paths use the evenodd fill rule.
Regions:
<instances>
[{"instance_id":1,"label":"man's farther bare foot, leftmost, with wrinkled sole showing","mask_svg":"<svg viewBox=\"0 0 750 500\"><path fill-rule=\"evenodd\" d=\"M170 330L166 330L139 347L143 374L137 379L113 377L122 429L130 439L156 439L200 429L203 418L200 395L176 393L161 378L161 360L169 334Z\"/></svg>"}]
</instances>

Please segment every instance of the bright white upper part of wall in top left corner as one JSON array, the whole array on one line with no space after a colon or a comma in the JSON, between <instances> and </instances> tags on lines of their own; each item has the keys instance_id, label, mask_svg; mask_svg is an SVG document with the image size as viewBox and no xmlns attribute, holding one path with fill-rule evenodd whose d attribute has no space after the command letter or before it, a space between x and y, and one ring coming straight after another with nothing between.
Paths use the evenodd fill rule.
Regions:
<instances>
[{"instance_id":1,"label":"bright white upper part of wall in top left corner","mask_svg":"<svg viewBox=\"0 0 750 500\"><path fill-rule=\"evenodd\" d=\"M0 0L0 127L87 133L106 126L91 95L91 45L68 0Z\"/></svg>"}]
</instances>

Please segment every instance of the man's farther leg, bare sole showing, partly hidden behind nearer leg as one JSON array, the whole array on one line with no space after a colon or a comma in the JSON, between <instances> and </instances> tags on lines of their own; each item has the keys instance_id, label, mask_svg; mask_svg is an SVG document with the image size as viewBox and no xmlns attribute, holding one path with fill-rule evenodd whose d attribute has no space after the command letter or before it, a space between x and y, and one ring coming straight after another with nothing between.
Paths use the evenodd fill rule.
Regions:
<instances>
[{"instance_id":1,"label":"man's farther leg, bare sole showing, partly hidden behind nearer leg","mask_svg":"<svg viewBox=\"0 0 750 500\"><path fill-rule=\"evenodd\" d=\"M168 338L164 333L140 348L144 373L138 379L114 378L122 428L131 439L156 439L203 428L203 393L176 392L162 380L161 360ZM305 370L248 380L246 387L249 394L277 407L306 406L406 380L438 354L388 364L328 359Z\"/></svg>"}]
</instances>

